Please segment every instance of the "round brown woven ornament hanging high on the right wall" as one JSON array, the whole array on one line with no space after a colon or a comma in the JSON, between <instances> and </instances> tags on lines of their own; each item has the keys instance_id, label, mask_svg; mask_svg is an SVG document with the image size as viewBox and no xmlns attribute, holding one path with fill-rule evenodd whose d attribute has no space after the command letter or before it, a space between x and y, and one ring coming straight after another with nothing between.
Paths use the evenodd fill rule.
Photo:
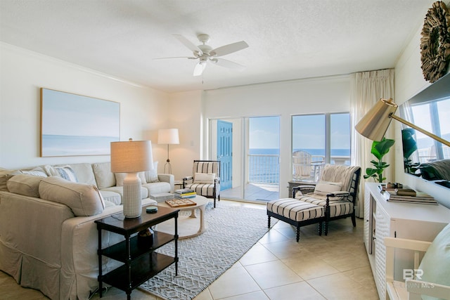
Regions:
<instances>
[{"instance_id":1,"label":"round brown woven ornament hanging high on the right wall","mask_svg":"<svg viewBox=\"0 0 450 300\"><path fill-rule=\"evenodd\" d=\"M450 10L436 1L428 10L420 38L423 77L435 82L446 74L450 60Z\"/></svg>"}]
</instances>

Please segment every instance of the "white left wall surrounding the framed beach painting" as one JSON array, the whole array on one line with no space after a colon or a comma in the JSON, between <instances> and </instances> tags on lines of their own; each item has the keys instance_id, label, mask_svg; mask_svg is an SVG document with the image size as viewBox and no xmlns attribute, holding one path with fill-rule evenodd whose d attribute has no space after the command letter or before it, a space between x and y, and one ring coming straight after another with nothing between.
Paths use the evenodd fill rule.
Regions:
<instances>
[{"instance_id":1,"label":"white left wall surrounding the framed beach painting","mask_svg":"<svg viewBox=\"0 0 450 300\"><path fill-rule=\"evenodd\" d=\"M110 160L109 155L39 157L41 87L119 102L121 140L151 139L154 159L165 160L153 138L167 122L166 93L1 43L0 167Z\"/></svg>"}]
</instances>

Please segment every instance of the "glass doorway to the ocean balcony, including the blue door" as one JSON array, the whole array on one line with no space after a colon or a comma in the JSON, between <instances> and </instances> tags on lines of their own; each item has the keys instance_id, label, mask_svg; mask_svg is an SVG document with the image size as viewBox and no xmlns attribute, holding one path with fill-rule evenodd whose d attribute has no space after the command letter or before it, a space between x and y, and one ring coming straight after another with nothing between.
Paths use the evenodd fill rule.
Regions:
<instances>
[{"instance_id":1,"label":"glass doorway to the ocean balcony, including the blue door","mask_svg":"<svg viewBox=\"0 0 450 300\"><path fill-rule=\"evenodd\" d=\"M210 148L221 161L221 198L278 199L279 117L212 119Z\"/></svg>"}]
</instances>

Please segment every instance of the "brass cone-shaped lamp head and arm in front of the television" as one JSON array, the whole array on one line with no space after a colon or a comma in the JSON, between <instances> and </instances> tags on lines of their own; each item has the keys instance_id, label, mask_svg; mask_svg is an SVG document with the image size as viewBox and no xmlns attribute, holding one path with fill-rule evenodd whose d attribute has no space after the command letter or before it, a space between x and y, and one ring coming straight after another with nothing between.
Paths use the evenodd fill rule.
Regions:
<instances>
[{"instance_id":1,"label":"brass cone-shaped lamp head and arm in front of the television","mask_svg":"<svg viewBox=\"0 0 450 300\"><path fill-rule=\"evenodd\" d=\"M417 131L425 134L426 136L430 136L430 138L434 138L436 141L443 143L450 147L450 142L444 140L435 134L426 131L425 129L420 128L417 125L412 124L411 122L406 121L406 119L401 119L401 117L397 117L394 115L399 105L395 104L392 98L380 99L375 106L369 110L364 117L356 124L355 129L362 136L365 136L369 140L372 141L381 141L383 136L387 131L387 127L389 127L391 120L396 119L397 121L410 126Z\"/></svg>"}]
</instances>

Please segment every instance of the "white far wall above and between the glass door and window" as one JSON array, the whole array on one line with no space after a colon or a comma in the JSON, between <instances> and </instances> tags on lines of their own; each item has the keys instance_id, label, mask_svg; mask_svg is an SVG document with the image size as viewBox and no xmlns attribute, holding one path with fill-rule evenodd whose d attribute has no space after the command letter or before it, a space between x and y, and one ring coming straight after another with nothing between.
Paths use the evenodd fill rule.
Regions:
<instances>
[{"instance_id":1,"label":"white far wall above and between the glass door and window","mask_svg":"<svg viewBox=\"0 0 450 300\"><path fill-rule=\"evenodd\" d=\"M205 91L204 107L205 119L280 117L280 196L288 197L286 187L292 172L291 116L348 112L349 77L299 79Z\"/></svg>"}]
</instances>

